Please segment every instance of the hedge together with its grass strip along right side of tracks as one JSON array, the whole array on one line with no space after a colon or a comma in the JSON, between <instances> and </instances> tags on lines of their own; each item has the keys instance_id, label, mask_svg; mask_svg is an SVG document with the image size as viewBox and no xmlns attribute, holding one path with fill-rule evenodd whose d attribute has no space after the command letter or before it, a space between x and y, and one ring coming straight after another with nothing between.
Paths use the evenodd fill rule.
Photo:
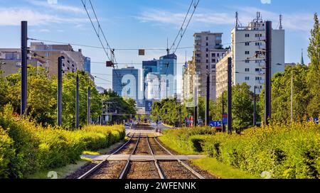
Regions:
<instances>
[{"instance_id":1,"label":"hedge together with its grass strip along right side of tracks","mask_svg":"<svg viewBox=\"0 0 320 193\"><path fill-rule=\"evenodd\" d=\"M241 136L204 130L164 131L160 140L178 153L205 153L192 162L221 178L320 178L319 125L272 124Z\"/></svg>"}]
</instances>

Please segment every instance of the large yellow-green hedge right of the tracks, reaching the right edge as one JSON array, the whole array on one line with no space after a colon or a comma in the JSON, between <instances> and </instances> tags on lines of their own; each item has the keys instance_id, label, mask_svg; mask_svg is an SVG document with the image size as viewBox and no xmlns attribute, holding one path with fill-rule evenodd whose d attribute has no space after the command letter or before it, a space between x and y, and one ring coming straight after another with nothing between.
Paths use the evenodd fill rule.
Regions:
<instances>
[{"instance_id":1,"label":"large yellow-green hedge right of the tracks, reaching the right edge","mask_svg":"<svg viewBox=\"0 0 320 193\"><path fill-rule=\"evenodd\" d=\"M255 175L320 177L320 130L314 123L274 124L249 129L244 135L219 133L206 140L203 150L220 162Z\"/></svg>"}]
</instances>

